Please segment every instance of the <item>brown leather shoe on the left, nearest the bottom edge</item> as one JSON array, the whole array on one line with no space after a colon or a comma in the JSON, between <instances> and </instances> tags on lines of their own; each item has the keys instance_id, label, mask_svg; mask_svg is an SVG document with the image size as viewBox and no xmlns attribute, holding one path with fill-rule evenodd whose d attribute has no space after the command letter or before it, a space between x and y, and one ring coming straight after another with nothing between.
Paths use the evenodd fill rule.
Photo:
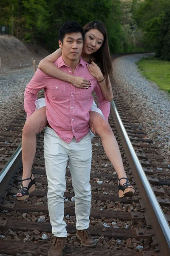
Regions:
<instances>
[{"instance_id":1,"label":"brown leather shoe on the left, nearest the bottom edge","mask_svg":"<svg viewBox=\"0 0 170 256\"><path fill-rule=\"evenodd\" d=\"M51 248L48 250L48 256L62 256L62 250L65 248L66 237L56 237Z\"/></svg>"}]
</instances>

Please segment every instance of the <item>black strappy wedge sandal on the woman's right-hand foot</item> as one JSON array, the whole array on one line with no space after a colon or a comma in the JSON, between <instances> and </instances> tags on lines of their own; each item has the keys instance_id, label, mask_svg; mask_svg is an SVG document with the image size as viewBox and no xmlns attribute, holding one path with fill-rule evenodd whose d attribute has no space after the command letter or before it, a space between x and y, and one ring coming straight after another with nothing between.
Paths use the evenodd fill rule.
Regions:
<instances>
[{"instance_id":1,"label":"black strappy wedge sandal on the woman's right-hand foot","mask_svg":"<svg viewBox=\"0 0 170 256\"><path fill-rule=\"evenodd\" d=\"M120 180L122 179L126 179L126 183L124 183L123 185L120 185ZM128 186L130 186L128 188ZM133 196L135 193L135 189L133 188L133 186L130 185L130 182L127 178L121 178L118 180L118 190L119 190L119 198L124 198L127 196Z\"/></svg>"}]
</instances>

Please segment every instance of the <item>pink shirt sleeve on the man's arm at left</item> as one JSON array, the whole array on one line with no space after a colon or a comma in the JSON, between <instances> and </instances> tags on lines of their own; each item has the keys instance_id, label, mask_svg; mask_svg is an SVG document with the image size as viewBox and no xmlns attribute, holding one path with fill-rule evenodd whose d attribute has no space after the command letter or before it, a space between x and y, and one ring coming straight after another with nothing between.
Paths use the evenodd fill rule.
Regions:
<instances>
[{"instance_id":1,"label":"pink shirt sleeve on the man's arm at left","mask_svg":"<svg viewBox=\"0 0 170 256\"><path fill-rule=\"evenodd\" d=\"M46 75L41 70L37 69L31 81L27 84L24 93L24 109L27 113L27 119L35 111L37 94L43 88L46 88Z\"/></svg>"}]
</instances>

